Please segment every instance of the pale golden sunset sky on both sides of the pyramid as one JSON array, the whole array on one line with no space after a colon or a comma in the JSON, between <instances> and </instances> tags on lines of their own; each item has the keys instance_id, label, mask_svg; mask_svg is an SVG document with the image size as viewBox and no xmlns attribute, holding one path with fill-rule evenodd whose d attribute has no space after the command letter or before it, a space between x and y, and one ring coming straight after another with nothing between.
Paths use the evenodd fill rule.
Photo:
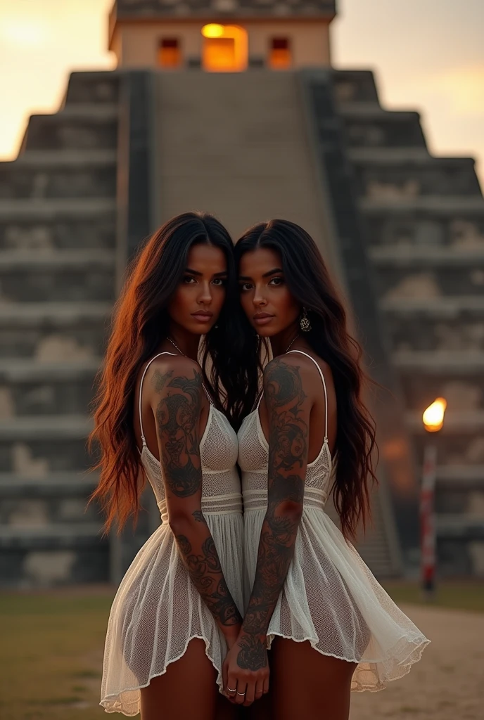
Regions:
<instances>
[{"instance_id":1,"label":"pale golden sunset sky on both sides of the pyramid","mask_svg":"<svg viewBox=\"0 0 484 720\"><path fill-rule=\"evenodd\" d=\"M112 0L0 0L0 158L73 69L113 68ZM340 0L333 63L372 68L387 108L418 109L431 151L478 160L484 187L484 0Z\"/></svg>"}]
</instances>

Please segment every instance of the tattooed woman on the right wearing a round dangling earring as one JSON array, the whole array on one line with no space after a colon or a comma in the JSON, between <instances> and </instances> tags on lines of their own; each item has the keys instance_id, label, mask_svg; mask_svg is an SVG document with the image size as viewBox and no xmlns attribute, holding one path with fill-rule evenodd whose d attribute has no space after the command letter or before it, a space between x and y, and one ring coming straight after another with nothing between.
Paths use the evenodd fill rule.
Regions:
<instances>
[{"instance_id":1,"label":"tattooed woman on the right wearing a round dangling earring","mask_svg":"<svg viewBox=\"0 0 484 720\"><path fill-rule=\"evenodd\" d=\"M236 261L246 320L238 462L248 588L225 690L236 703L259 701L251 715L265 720L347 720L351 689L380 690L428 643L349 543L375 480L361 351L303 228L255 225L236 244ZM267 340L273 359L257 402ZM342 532L324 513L331 492ZM271 689L261 701L267 648Z\"/></svg>"}]
</instances>

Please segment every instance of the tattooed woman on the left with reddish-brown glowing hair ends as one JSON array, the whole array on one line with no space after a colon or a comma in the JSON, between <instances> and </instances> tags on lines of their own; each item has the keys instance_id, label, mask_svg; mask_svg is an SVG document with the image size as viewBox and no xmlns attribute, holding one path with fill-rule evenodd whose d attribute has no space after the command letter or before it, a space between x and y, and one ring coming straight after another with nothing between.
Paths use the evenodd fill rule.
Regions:
<instances>
[{"instance_id":1,"label":"tattooed woman on the left with reddish-brown glowing hair ends","mask_svg":"<svg viewBox=\"0 0 484 720\"><path fill-rule=\"evenodd\" d=\"M243 608L238 446L228 420L240 405L234 297L227 231L215 217L185 213L148 240L117 303L97 398L94 498L107 527L122 527L138 513L147 478L162 522L112 604L107 712L213 720L236 710L218 692Z\"/></svg>"}]
</instances>

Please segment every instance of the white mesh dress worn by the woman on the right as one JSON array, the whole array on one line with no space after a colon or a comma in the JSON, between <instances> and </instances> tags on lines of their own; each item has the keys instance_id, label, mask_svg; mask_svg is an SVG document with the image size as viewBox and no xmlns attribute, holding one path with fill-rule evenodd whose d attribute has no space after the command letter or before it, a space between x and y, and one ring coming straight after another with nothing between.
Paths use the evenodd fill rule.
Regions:
<instances>
[{"instance_id":1,"label":"white mesh dress worn by the woman on the right","mask_svg":"<svg viewBox=\"0 0 484 720\"><path fill-rule=\"evenodd\" d=\"M351 544L324 512L331 491L332 461L326 431L318 457L308 464L303 517L295 552L268 629L274 636L303 642L325 655L358 667L352 690L382 690L389 680L406 675L421 658L429 640L393 603ZM260 400L259 400L260 402ZM256 575L257 552L267 508L268 444L259 420L259 405L238 432L245 521L245 601Z\"/></svg>"}]
</instances>

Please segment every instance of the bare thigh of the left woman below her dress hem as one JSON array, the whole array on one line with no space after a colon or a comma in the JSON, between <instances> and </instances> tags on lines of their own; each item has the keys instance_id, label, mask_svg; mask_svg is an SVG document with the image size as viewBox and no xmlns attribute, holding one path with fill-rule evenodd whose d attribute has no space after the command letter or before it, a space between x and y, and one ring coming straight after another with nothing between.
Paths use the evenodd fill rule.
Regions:
<instances>
[{"instance_id":1,"label":"bare thigh of the left woman below her dress hem","mask_svg":"<svg viewBox=\"0 0 484 720\"><path fill-rule=\"evenodd\" d=\"M141 720L214 720L219 695L216 679L205 642L191 640L183 657L141 689Z\"/></svg>"}]
</instances>

